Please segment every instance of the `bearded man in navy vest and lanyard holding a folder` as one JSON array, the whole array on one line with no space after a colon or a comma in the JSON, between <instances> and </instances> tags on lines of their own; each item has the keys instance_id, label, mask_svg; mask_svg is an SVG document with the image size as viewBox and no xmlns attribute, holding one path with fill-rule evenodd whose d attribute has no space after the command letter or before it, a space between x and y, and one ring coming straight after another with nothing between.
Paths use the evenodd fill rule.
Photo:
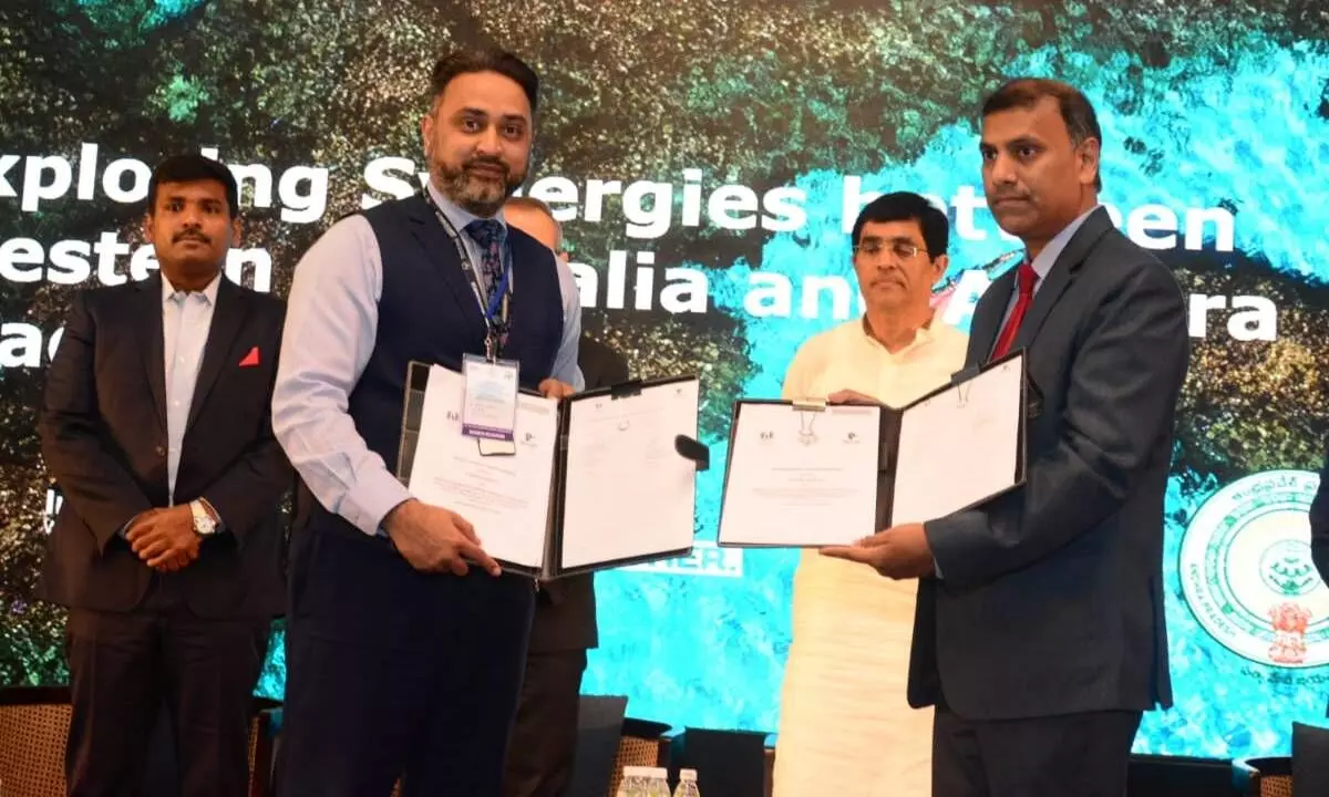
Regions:
<instances>
[{"instance_id":1,"label":"bearded man in navy vest and lanyard holding a folder","mask_svg":"<svg viewBox=\"0 0 1329 797\"><path fill-rule=\"evenodd\" d=\"M575 287L509 227L538 78L504 52L433 69L429 183L334 224L295 271L272 426L303 482L291 537L283 796L497 797L534 604L397 461L412 360L490 347L524 388L582 388ZM469 565L476 563L476 565Z\"/></svg>"}]
</instances>

